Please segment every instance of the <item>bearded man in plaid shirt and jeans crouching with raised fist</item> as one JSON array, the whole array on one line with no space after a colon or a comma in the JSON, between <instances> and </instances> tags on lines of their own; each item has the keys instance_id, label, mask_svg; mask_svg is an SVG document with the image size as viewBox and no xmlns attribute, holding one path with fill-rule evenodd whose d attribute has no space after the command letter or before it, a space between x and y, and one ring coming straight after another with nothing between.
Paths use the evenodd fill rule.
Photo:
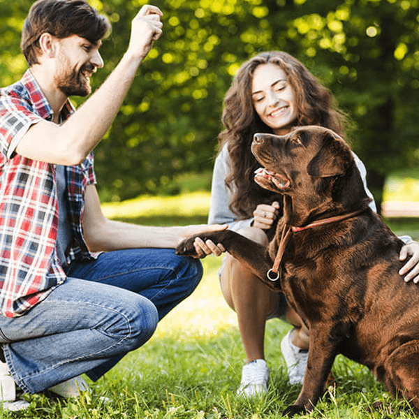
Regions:
<instances>
[{"instance_id":1,"label":"bearded man in plaid shirt and jeans crouching with raised fist","mask_svg":"<svg viewBox=\"0 0 419 419\"><path fill-rule=\"evenodd\" d=\"M88 390L80 374L97 380L145 344L202 276L173 248L209 226L110 221L95 186L92 150L161 36L160 17L141 8L124 57L79 110L68 97L90 93L108 20L85 0L38 0L24 22L29 70L0 89L0 386L10 410L24 408L15 383L64 397Z\"/></svg>"}]
</instances>

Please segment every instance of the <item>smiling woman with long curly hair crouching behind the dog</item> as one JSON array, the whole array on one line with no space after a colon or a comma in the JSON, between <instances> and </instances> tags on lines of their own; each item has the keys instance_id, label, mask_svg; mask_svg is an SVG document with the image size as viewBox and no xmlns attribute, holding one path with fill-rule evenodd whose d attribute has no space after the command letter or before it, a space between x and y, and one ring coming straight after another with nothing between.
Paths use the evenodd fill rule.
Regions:
<instances>
[{"instance_id":1,"label":"smiling woman with long curly hair crouching behind the dog","mask_svg":"<svg viewBox=\"0 0 419 419\"><path fill-rule=\"evenodd\" d=\"M222 120L226 129L220 135L221 151L214 166L209 223L228 223L231 230L267 244L281 208L277 196L253 182L253 172L260 166L250 150L254 133L283 135L294 126L315 124L344 135L346 117L335 108L328 90L299 61L285 52L264 52L240 67L226 95ZM365 183L365 167L354 157ZM365 189L372 197L366 183ZM371 207L376 210L374 200ZM411 258L400 274L410 271L405 280L417 282L419 243L410 237L403 239L406 244L400 259ZM221 245L200 239L196 249L200 256L218 256L223 251ZM228 253L221 267L221 290L237 313L246 352L238 394L251 397L267 392L269 369L263 341L265 322L274 317L285 318L294 326L281 341L281 351L290 383L302 383L309 331L286 306L284 296L267 288Z\"/></svg>"}]
</instances>

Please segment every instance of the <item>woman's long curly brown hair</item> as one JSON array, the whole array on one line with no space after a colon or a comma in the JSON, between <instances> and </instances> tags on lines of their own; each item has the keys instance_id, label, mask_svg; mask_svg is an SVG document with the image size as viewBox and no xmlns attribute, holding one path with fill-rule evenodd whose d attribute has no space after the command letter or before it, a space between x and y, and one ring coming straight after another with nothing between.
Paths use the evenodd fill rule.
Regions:
<instances>
[{"instance_id":1,"label":"woman's long curly brown hair","mask_svg":"<svg viewBox=\"0 0 419 419\"><path fill-rule=\"evenodd\" d=\"M328 89L290 54L263 52L242 64L224 99L225 130L219 135L220 150L228 143L232 165L226 178L226 186L234 191L230 210L242 219L251 217L258 204L272 203L277 198L253 181L253 172L260 166L251 154L253 135L272 133L254 110L251 98L253 72L260 64L277 64L286 73L295 97L295 126L320 125L341 134L347 122Z\"/></svg>"}]
</instances>

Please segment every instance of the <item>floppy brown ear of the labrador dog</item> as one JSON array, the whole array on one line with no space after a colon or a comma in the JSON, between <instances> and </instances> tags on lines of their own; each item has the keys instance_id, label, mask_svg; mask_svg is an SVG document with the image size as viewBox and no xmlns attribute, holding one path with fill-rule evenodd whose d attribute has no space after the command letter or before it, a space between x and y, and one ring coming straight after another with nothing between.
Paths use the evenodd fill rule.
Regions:
<instances>
[{"instance_id":1,"label":"floppy brown ear of the labrador dog","mask_svg":"<svg viewBox=\"0 0 419 419\"><path fill-rule=\"evenodd\" d=\"M351 166L351 150L338 135L328 132L323 145L307 166L307 174L313 177L341 176Z\"/></svg>"}]
</instances>

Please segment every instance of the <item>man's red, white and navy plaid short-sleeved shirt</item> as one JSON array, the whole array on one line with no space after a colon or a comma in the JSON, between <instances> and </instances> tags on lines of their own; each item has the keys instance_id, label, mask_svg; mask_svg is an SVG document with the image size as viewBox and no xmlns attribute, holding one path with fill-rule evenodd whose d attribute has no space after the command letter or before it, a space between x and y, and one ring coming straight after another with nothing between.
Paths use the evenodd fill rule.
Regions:
<instances>
[{"instance_id":1,"label":"man's red, white and navy plaid short-sleeved shirt","mask_svg":"<svg viewBox=\"0 0 419 419\"><path fill-rule=\"evenodd\" d=\"M74 108L67 101L61 119ZM52 120L52 109L27 71L22 80L0 89L0 313L7 317L43 300L66 280L55 242L58 199L54 165L15 153L32 124ZM87 184L96 182L93 155L78 166L66 167L71 260L94 258L82 236L81 214Z\"/></svg>"}]
</instances>

